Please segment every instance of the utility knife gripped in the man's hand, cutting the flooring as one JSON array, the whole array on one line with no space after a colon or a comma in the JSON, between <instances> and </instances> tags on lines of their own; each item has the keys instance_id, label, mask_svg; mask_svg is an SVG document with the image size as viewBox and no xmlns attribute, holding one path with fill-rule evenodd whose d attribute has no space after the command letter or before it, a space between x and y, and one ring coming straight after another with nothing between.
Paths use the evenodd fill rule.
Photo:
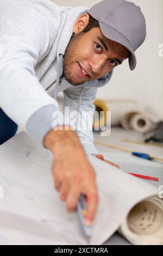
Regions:
<instances>
[{"instance_id":1,"label":"utility knife gripped in the man's hand, cutting the flooring","mask_svg":"<svg viewBox=\"0 0 163 256\"><path fill-rule=\"evenodd\" d=\"M79 220L80 220L80 224L82 226L82 229L85 233L86 236L91 236L92 235L92 228L91 227L87 227L84 224L84 216L86 213L86 205L85 205L85 199L84 199L84 194L81 194L79 197L79 202L77 205L77 212L78 212L78 216L79 216Z\"/></svg>"}]
</instances>

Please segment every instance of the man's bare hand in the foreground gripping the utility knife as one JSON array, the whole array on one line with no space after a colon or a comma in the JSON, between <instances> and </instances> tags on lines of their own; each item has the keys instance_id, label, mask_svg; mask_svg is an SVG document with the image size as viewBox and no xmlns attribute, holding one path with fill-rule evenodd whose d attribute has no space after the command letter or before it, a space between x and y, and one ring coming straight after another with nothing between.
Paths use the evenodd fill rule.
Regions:
<instances>
[{"instance_id":1,"label":"man's bare hand in the foreground gripping the utility knife","mask_svg":"<svg viewBox=\"0 0 163 256\"><path fill-rule=\"evenodd\" d=\"M79 196L84 194L87 206L85 224L91 225L98 206L95 169L87 159L76 132L69 126L64 128L51 130L43 142L54 155L52 175L55 189L60 193L60 199L65 201L68 212L76 210Z\"/></svg>"}]
</instances>

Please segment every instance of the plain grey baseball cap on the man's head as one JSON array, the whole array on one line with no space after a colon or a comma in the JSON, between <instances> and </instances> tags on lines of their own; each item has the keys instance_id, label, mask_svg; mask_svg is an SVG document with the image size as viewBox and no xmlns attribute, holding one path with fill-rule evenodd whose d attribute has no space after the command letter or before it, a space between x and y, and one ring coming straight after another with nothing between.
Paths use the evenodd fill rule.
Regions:
<instances>
[{"instance_id":1,"label":"plain grey baseball cap on the man's head","mask_svg":"<svg viewBox=\"0 0 163 256\"><path fill-rule=\"evenodd\" d=\"M99 21L103 35L130 51L129 67L136 66L136 49L146 39L146 21L139 6L125 0L104 0L87 11Z\"/></svg>"}]
</instances>

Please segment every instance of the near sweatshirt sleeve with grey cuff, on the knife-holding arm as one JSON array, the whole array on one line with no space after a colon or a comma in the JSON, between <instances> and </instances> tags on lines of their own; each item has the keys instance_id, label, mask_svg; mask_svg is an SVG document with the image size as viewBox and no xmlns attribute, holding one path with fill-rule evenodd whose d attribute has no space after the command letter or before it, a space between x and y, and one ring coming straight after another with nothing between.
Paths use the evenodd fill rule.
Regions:
<instances>
[{"instance_id":1,"label":"near sweatshirt sleeve with grey cuff, on the knife-holding arm","mask_svg":"<svg viewBox=\"0 0 163 256\"><path fill-rule=\"evenodd\" d=\"M10 6L0 22L0 106L39 142L52 129L52 114L59 109L34 70L56 36L51 16L43 8L36 2ZM58 27L56 18L56 34Z\"/></svg>"}]
</instances>

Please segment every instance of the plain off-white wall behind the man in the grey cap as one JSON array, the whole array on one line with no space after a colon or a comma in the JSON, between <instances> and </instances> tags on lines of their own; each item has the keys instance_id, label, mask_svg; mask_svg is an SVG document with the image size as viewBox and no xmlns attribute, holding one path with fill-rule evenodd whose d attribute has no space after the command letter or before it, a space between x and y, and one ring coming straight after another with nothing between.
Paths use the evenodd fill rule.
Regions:
<instances>
[{"instance_id":1,"label":"plain off-white wall behind the man in the grey cap","mask_svg":"<svg viewBox=\"0 0 163 256\"><path fill-rule=\"evenodd\" d=\"M53 2L58 5L72 7L84 5L91 8L99 1L54 0ZM163 120L163 56L159 57L159 46L163 44L163 1L131 0L130 2L139 5L145 15L146 41L135 52L136 69L130 71L128 60L118 66L114 70L111 81L98 89L97 99L112 103L135 102L140 113L158 122ZM116 111L118 112L117 107Z\"/></svg>"}]
</instances>

